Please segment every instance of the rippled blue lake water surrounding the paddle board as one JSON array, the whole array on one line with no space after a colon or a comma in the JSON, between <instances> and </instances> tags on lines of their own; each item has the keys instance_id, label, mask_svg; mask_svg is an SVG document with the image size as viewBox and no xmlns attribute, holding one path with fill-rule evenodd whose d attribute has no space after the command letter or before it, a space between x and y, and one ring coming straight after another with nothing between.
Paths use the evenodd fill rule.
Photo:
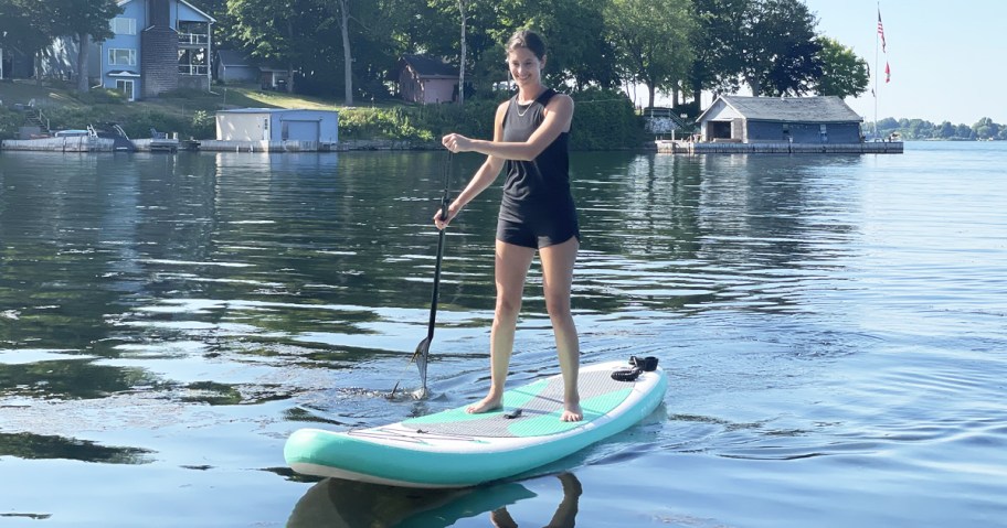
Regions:
<instances>
[{"instance_id":1,"label":"rippled blue lake water surrounding the paddle board","mask_svg":"<svg viewBox=\"0 0 1007 528\"><path fill-rule=\"evenodd\" d=\"M0 153L0 525L1007 526L1007 144L573 158L583 362L658 356L664 405L416 492L283 444L484 395L498 187L447 237L432 396L389 399L420 382L442 153ZM558 373L540 287L516 384Z\"/></svg>"}]
</instances>

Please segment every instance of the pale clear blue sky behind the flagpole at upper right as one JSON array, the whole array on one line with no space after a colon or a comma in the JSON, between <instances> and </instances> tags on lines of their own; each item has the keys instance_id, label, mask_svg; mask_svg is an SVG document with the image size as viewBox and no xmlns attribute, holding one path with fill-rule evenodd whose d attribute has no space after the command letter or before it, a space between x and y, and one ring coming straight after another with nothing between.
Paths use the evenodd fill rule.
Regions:
<instances>
[{"instance_id":1,"label":"pale clear blue sky behind the flagpole at upper right","mask_svg":"<svg viewBox=\"0 0 1007 528\"><path fill-rule=\"evenodd\" d=\"M877 116L974 125L1007 125L1007 1L881 0L887 53L878 56L877 0L805 0L818 33L851 47L878 82ZM891 82L884 83L884 63ZM870 88L875 87L871 78ZM875 120L870 90L846 103Z\"/></svg>"}]
</instances>

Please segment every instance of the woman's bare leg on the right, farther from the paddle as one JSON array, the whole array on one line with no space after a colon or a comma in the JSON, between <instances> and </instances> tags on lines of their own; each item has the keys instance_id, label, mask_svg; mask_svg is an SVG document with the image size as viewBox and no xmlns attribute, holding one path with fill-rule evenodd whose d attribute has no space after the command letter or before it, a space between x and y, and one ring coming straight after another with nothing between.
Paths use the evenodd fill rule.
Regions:
<instances>
[{"instance_id":1,"label":"woman's bare leg on the right, farther from the paddle","mask_svg":"<svg viewBox=\"0 0 1007 528\"><path fill-rule=\"evenodd\" d=\"M581 347L577 341L576 326L570 313L570 292L573 283L573 265L576 261L580 241L576 237L554 246L539 249L542 259L542 287L545 292L545 309L552 321L555 334L556 354L560 356L560 370L563 373L563 421L580 421L584 413L581 410L581 397L577 392L577 370L580 369Z\"/></svg>"}]
</instances>

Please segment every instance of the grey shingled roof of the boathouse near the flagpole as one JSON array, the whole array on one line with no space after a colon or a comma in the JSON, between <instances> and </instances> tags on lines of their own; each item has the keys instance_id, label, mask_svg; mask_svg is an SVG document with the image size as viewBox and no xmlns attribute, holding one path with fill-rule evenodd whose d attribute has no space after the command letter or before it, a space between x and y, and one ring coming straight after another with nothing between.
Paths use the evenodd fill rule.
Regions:
<instances>
[{"instance_id":1,"label":"grey shingled roof of the boathouse near the flagpole","mask_svg":"<svg viewBox=\"0 0 1007 528\"><path fill-rule=\"evenodd\" d=\"M725 95L707 108L697 121L719 114L720 105L751 121L785 122L861 122L861 118L842 99L836 96L818 97L743 97ZM708 116L708 114L712 114Z\"/></svg>"}]
</instances>

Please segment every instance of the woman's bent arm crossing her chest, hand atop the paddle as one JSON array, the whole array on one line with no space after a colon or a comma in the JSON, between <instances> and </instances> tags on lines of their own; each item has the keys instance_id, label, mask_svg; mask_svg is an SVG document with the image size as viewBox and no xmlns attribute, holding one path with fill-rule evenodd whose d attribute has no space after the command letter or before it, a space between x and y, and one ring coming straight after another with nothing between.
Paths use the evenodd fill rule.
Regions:
<instances>
[{"instance_id":1,"label":"woman's bent arm crossing her chest, hand atop the paddle","mask_svg":"<svg viewBox=\"0 0 1007 528\"><path fill-rule=\"evenodd\" d=\"M528 141L486 141L449 133L441 142L452 152L479 152L506 160L531 161L552 144L561 133L570 131L572 119L573 99L565 94L558 94L549 100L542 125L531 133Z\"/></svg>"}]
</instances>

